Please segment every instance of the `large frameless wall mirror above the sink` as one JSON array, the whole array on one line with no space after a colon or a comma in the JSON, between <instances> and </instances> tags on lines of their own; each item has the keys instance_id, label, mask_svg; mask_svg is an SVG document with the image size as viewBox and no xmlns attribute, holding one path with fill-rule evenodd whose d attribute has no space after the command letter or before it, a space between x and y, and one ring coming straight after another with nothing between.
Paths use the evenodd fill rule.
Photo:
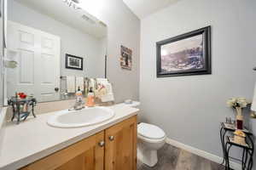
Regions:
<instances>
[{"instance_id":1,"label":"large frameless wall mirror above the sink","mask_svg":"<svg viewBox=\"0 0 256 170\"><path fill-rule=\"evenodd\" d=\"M108 28L78 0L9 0L8 9L7 98L70 99L85 77L106 77Z\"/></svg>"}]
</instances>

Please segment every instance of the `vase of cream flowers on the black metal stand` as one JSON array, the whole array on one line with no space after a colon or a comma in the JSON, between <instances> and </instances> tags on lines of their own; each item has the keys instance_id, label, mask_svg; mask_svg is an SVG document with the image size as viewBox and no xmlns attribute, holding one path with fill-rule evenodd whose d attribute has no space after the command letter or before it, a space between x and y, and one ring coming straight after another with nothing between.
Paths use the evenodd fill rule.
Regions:
<instances>
[{"instance_id":1,"label":"vase of cream flowers on the black metal stand","mask_svg":"<svg viewBox=\"0 0 256 170\"><path fill-rule=\"evenodd\" d=\"M243 128L243 116L241 115L242 108L247 107L249 103L245 98L231 98L227 101L227 105L236 109L236 128Z\"/></svg>"}]
</instances>

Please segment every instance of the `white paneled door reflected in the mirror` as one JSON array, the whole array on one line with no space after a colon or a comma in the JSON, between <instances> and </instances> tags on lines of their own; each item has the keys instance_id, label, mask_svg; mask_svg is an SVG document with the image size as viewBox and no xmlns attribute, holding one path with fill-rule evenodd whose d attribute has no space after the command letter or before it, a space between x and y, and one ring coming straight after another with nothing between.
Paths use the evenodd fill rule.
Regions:
<instances>
[{"instance_id":1,"label":"white paneled door reflected in the mirror","mask_svg":"<svg viewBox=\"0 0 256 170\"><path fill-rule=\"evenodd\" d=\"M15 92L33 94L38 101L59 99L61 38L32 27L8 22L8 58L18 67L9 69L8 97Z\"/></svg>"}]
</instances>

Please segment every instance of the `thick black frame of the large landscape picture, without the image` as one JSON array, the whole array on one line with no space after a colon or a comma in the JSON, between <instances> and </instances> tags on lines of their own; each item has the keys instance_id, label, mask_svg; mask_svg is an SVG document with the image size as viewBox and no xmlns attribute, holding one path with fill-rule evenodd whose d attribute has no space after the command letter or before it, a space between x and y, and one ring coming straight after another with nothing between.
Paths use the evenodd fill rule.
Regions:
<instances>
[{"instance_id":1,"label":"thick black frame of the large landscape picture, without the image","mask_svg":"<svg viewBox=\"0 0 256 170\"><path fill-rule=\"evenodd\" d=\"M161 68L161 47L163 45L178 42L183 39L202 35L202 59L203 67L201 69L191 69L183 71L163 71ZM207 26L195 31L190 31L177 37L171 37L166 40L156 42L156 75L157 77L178 77L192 75L212 74L211 61L211 26Z\"/></svg>"}]
</instances>

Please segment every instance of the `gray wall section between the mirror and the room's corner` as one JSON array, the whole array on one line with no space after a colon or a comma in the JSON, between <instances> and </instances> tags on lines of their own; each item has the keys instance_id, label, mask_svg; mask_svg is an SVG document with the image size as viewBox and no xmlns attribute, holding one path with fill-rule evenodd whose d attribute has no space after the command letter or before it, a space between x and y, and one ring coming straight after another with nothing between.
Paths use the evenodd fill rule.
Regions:
<instances>
[{"instance_id":1,"label":"gray wall section between the mirror and the room's corner","mask_svg":"<svg viewBox=\"0 0 256 170\"><path fill-rule=\"evenodd\" d=\"M113 82L115 101L138 99L140 20L120 0L84 3L85 10L108 25L108 78ZM132 49L131 71L122 70L119 66L120 45Z\"/></svg>"}]
</instances>

